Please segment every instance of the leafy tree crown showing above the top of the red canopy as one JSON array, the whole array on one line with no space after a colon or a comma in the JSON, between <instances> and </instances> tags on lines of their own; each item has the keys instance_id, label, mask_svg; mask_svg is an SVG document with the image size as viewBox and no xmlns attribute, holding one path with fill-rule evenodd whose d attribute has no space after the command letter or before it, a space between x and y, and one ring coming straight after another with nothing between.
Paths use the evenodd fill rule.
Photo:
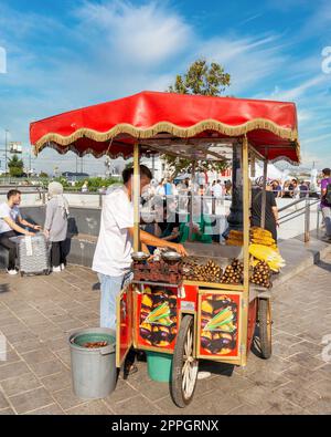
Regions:
<instances>
[{"instance_id":1,"label":"leafy tree crown showing above the top of the red canopy","mask_svg":"<svg viewBox=\"0 0 331 437\"><path fill-rule=\"evenodd\" d=\"M173 85L170 85L170 93L220 95L231 84L231 75L225 73L221 64L199 59L193 62L185 74L178 74Z\"/></svg>"}]
</instances>

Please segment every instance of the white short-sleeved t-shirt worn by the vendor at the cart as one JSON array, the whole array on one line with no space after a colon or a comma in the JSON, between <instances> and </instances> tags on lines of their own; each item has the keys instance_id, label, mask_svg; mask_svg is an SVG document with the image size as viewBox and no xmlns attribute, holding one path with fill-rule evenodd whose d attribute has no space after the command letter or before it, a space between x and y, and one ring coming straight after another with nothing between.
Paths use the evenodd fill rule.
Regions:
<instances>
[{"instance_id":1,"label":"white short-sleeved t-shirt worn by the vendor at the cart","mask_svg":"<svg viewBox=\"0 0 331 437\"><path fill-rule=\"evenodd\" d=\"M105 196L100 232L92 269L109 277L120 277L131 264L132 239L128 228L134 227L134 206L126 188L108 190Z\"/></svg>"}]
</instances>

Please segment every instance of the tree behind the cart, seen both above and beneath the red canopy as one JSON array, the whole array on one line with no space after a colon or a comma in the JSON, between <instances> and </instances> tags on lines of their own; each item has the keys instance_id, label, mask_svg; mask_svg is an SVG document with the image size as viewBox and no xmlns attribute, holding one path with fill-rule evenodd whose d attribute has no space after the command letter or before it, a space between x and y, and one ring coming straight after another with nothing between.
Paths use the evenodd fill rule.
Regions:
<instances>
[{"instance_id":1,"label":"tree behind the cart, seen both above and beneath the red canopy","mask_svg":"<svg viewBox=\"0 0 331 437\"><path fill-rule=\"evenodd\" d=\"M226 90L231 84L231 75L225 73L224 67L215 62L210 65L204 59L199 59L193 62L185 74L175 76L173 85L170 85L168 92L179 94L195 94L195 95L211 95L217 96ZM192 160L177 158L169 155L163 155L171 177L173 178L179 173L191 173ZM227 167L226 159L221 162L199 162L196 163L196 170L217 170L222 171Z\"/></svg>"}]
</instances>

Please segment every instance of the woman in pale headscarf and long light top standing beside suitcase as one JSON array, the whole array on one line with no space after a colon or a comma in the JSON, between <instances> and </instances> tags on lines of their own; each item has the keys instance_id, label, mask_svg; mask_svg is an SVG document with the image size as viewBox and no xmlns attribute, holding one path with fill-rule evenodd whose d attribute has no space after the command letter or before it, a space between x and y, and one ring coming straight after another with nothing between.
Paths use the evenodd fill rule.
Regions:
<instances>
[{"instance_id":1,"label":"woman in pale headscarf and long light top standing beside suitcase","mask_svg":"<svg viewBox=\"0 0 331 437\"><path fill-rule=\"evenodd\" d=\"M52 242L53 272L61 272L65 267L64 242L67 235L68 202L63 196L63 186L60 183L53 181L49 185L49 198L44 229Z\"/></svg>"}]
</instances>

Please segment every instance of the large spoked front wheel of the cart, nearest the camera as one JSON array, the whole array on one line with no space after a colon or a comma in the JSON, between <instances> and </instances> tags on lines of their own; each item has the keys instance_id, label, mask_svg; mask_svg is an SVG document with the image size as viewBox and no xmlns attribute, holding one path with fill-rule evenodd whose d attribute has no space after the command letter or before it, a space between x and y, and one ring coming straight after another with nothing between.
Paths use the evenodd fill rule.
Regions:
<instances>
[{"instance_id":1,"label":"large spoked front wheel of the cart, nearest the camera","mask_svg":"<svg viewBox=\"0 0 331 437\"><path fill-rule=\"evenodd\" d=\"M170 384L172 399L180 408L184 408L193 398L197 371L199 361L194 357L194 318L184 315L173 352Z\"/></svg>"}]
</instances>

